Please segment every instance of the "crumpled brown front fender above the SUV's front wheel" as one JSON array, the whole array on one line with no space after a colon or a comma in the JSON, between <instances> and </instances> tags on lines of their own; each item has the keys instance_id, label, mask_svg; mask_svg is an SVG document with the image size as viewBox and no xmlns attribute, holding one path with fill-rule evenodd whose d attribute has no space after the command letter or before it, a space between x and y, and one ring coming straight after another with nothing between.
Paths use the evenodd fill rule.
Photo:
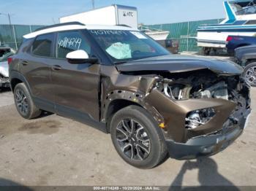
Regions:
<instances>
[{"instance_id":1,"label":"crumpled brown front fender above the SUV's front wheel","mask_svg":"<svg viewBox=\"0 0 256 191\"><path fill-rule=\"evenodd\" d=\"M129 101L131 104L137 104L146 109L154 119L162 123L163 117L154 106L146 103L145 97L151 91L152 87L157 82L157 76L131 76L119 74L116 71L111 71L108 66L105 66L104 72L111 72L111 75L102 75L101 93L101 121L107 122L110 106L114 101L123 100ZM110 77L109 77L110 76Z\"/></svg>"}]
</instances>

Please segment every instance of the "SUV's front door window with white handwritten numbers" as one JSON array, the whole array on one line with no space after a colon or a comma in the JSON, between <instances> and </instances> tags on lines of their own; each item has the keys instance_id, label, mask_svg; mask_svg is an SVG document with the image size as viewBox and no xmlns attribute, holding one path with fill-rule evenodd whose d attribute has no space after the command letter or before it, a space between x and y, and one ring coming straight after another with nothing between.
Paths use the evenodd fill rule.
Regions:
<instances>
[{"instance_id":1,"label":"SUV's front door window with white handwritten numbers","mask_svg":"<svg viewBox=\"0 0 256 191\"><path fill-rule=\"evenodd\" d=\"M79 31L60 32L57 40L57 58L66 58L67 53L75 50L85 50L91 54L91 47Z\"/></svg>"}]
</instances>

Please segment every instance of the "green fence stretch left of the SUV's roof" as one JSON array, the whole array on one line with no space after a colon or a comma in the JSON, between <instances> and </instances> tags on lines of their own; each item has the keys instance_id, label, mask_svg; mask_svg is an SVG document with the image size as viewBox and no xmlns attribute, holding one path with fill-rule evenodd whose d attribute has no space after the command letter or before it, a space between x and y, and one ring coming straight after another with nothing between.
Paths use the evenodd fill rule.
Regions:
<instances>
[{"instance_id":1,"label":"green fence stretch left of the SUV's roof","mask_svg":"<svg viewBox=\"0 0 256 191\"><path fill-rule=\"evenodd\" d=\"M0 45L17 50L22 42L22 36L29 34L42 26L0 25Z\"/></svg>"}]
</instances>

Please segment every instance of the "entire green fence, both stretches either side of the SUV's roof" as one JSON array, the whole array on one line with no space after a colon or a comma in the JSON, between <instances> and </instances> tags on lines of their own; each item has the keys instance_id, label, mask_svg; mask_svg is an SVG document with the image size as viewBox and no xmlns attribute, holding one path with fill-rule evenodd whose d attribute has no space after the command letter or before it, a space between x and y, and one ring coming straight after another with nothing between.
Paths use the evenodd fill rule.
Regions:
<instances>
[{"instance_id":1,"label":"entire green fence, both stretches either side of the SUV's roof","mask_svg":"<svg viewBox=\"0 0 256 191\"><path fill-rule=\"evenodd\" d=\"M170 23L159 25L147 25L146 28L154 28L163 31L170 31L169 39L176 39L179 42L179 51L199 51L197 47L197 26L217 24L222 19L198 20L184 23ZM35 31L42 26L25 26L25 25L0 25L0 45L5 44L14 48L19 47L22 42L22 36Z\"/></svg>"}]
</instances>

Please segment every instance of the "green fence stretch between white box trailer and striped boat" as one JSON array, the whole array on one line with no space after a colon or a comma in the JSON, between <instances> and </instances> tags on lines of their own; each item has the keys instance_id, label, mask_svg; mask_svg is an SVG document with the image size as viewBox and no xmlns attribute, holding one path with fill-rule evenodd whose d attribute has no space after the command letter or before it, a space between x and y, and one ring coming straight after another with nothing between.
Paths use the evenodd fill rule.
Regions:
<instances>
[{"instance_id":1,"label":"green fence stretch between white box trailer and striped boat","mask_svg":"<svg viewBox=\"0 0 256 191\"><path fill-rule=\"evenodd\" d=\"M170 23L160 25L147 25L146 28L153 28L162 31L170 31L168 39L176 39L179 42L179 51L200 51L197 47L197 27L200 25L218 24L223 19L198 20L184 23Z\"/></svg>"}]
</instances>

